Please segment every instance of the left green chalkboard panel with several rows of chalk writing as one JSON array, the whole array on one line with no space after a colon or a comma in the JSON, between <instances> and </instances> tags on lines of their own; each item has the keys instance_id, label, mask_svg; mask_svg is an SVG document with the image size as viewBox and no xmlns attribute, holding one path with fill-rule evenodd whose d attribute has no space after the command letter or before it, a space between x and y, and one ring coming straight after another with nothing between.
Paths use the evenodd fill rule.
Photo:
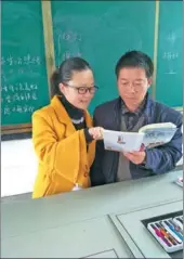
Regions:
<instances>
[{"instance_id":1,"label":"left green chalkboard panel with several rows of chalk writing","mask_svg":"<svg viewBox=\"0 0 184 259\"><path fill-rule=\"evenodd\" d=\"M31 121L49 102L40 1L2 1L1 125Z\"/></svg>"}]
</instances>

